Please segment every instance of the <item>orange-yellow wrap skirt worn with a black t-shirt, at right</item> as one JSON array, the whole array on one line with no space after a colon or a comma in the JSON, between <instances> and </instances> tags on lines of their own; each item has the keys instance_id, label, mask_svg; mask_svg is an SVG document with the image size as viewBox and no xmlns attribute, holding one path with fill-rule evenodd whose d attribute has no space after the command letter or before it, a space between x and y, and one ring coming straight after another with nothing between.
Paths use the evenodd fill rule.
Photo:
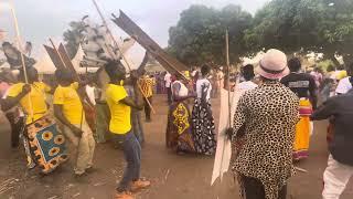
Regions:
<instances>
[{"instance_id":1,"label":"orange-yellow wrap skirt worn with a black t-shirt, at right","mask_svg":"<svg viewBox=\"0 0 353 199\"><path fill-rule=\"evenodd\" d=\"M300 100L299 104L300 121L296 126L296 138L293 145L293 159L300 160L309 156L310 134L312 132L312 123L310 115L312 106L309 100Z\"/></svg>"}]
</instances>

